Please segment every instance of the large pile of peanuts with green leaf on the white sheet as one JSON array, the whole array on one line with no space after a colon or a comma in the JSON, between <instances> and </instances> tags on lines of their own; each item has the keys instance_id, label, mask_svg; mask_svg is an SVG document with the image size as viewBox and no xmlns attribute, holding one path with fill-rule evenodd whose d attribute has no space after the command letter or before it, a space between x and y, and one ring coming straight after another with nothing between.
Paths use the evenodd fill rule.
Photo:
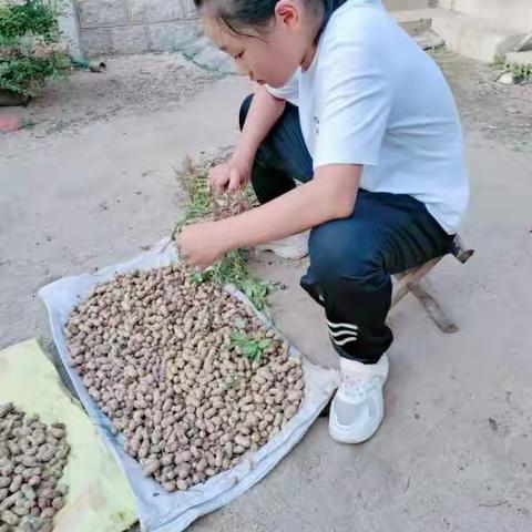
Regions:
<instances>
[{"instance_id":1,"label":"large pile of peanuts with green leaf on the white sheet","mask_svg":"<svg viewBox=\"0 0 532 532\"><path fill-rule=\"evenodd\" d=\"M64 330L72 367L125 452L168 492L237 464L304 399L288 344L180 264L98 286Z\"/></svg>"}]
</instances>

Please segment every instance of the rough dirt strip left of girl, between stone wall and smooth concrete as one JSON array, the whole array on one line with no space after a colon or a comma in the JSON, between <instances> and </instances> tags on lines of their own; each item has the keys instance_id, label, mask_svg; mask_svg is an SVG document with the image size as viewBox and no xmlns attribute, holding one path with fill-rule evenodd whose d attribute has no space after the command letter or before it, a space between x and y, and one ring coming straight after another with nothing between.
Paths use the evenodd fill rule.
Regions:
<instances>
[{"instance_id":1,"label":"rough dirt strip left of girl, between stone wall and smooth concrete","mask_svg":"<svg viewBox=\"0 0 532 532\"><path fill-rule=\"evenodd\" d=\"M14 113L30 124L31 137L50 139L116 116L175 109L222 78L178 54L123 55L95 62L104 62L106 70L74 71L52 82L28 108L0 108L0 115Z\"/></svg>"}]
</instances>

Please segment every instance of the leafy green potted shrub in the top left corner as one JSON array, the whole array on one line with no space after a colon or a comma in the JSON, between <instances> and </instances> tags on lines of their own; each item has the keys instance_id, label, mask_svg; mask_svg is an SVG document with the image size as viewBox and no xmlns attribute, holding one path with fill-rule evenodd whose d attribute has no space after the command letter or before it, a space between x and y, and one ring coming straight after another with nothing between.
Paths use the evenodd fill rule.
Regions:
<instances>
[{"instance_id":1,"label":"leafy green potted shrub in the top left corner","mask_svg":"<svg viewBox=\"0 0 532 532\"><path fill-rule=\"evenodd\" d=\"M28 103L48 80L63 76L70 68L66 49L59 42L59 14L53 1L0 4L0 105Z\"/></svg>"}]
</instances>

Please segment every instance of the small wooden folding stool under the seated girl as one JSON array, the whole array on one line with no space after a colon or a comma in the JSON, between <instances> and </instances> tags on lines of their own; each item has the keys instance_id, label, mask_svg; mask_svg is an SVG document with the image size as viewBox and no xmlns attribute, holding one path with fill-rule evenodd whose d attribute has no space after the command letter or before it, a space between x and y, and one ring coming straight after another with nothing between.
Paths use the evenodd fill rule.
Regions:
<instances>
[{"instance_id":1,"label":"small wooden folding stool under the seated girl","mask_svg":"<svg viewBox=\"0 0 532 532\"><path fill-rule=\"evenodd\" d=\"M461 237L457 235L453 241L451 250L452 255L466 264L474 254L474 249L467 247ZM458 332L458 325L453 324L440 307L436 298L428 291L429 288L422 285L427 285L428 282L423 280L423 277L434 268L443 257L433 258L423 264L419 268L405 272L403 274L395 275L397 283L393 286L393 296L391 298L391 306L397 305L408 293L411 293L418 301L427 310L427 314L431 317L434 324L447 334Z\"/></svg>"}]
</instances>

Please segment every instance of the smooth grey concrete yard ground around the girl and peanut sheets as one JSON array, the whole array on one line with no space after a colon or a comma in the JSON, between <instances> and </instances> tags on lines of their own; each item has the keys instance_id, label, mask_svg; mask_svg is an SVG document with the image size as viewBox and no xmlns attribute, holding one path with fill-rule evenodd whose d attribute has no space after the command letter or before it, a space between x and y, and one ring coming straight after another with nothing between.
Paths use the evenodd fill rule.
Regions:
<instances>
[{"instance_id":1,"label":"smooth grey concrete yard ground around the girl and peanut sheets","mask_svg":"<svg viewBox=\"0 0 532 532\"><path fill-rule=\"evenodd\" d=\"M438 59L464 120L473 194L463 234L477 255L466 266L448 258L430 277L460 332L442 335L405 299L391 314L379 433L341 446L318 420L267 479L191 531L532 530L532 89L494 85L488 69L447 52ZM127 82L111 63L99 79L108 90L83 94L94 81L76 74L75 109L41 100L21 111L39 117L32 130L0 136L0 348L49 339L39 287L167 235L183 206L174 168L235 142L244 81L185 66L170 69L168 83L156 70L143 105L130 61ZM174 59L157 61L167 69ZM76 119L85 98L109 105L111 88L116 112ZM287 285L274 296L278 326L313 360L335 364L320 313L297 286L304 267L257 264Z\"/></svg>"}]
</instances>

